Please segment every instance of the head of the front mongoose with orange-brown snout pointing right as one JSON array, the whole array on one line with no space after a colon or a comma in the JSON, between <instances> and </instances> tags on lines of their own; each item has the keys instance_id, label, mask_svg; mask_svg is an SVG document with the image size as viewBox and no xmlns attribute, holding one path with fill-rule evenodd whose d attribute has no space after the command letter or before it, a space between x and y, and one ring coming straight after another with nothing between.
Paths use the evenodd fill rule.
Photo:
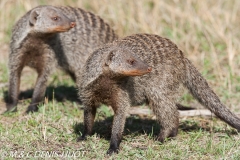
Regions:
<instances>
[{"instance_id":1,"label":"head of the front mongoose with orange-brown snout pointing right","mask_svg":"<svg viewBox=\"0 0 240 160\"><path fill-rule=\"evenodd\" d=\"M128 49L115 48L109 51L105 67L119 76L141 76L152 71L145 62Z\"/></svg>"}]
</instances>

